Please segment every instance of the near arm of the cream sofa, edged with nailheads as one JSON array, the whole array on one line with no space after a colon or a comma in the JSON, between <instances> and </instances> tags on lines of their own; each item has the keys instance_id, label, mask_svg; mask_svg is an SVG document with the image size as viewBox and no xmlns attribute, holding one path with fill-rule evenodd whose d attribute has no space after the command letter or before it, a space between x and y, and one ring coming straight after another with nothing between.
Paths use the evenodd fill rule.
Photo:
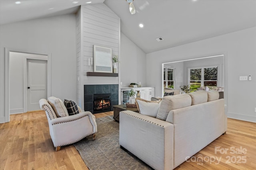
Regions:
<instances>
[{"instance_id":1,"label":"near arm of the cream sofa, edged with nailheads","mask_svg":"<svg viewBox=\"0 0 256 170\"><path fill-rule=\"evenodd\" d=\"M134 111L119 113L119 144L154 169L173 169L172 123Z\"/></svg>"}]
</instances>

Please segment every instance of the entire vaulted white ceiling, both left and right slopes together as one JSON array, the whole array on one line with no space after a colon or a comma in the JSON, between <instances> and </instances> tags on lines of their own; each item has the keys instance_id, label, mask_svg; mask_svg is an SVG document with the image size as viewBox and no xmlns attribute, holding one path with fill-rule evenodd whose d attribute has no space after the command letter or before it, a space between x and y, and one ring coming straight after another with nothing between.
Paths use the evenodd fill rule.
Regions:
<instances>
[{"instance_id":1,"label":"entire vaulted white ceiling, both left and right slopes together","mask_svg":"<svg viewBox=\"0 0 256 170\"><path fill-rule=\"evenodd\" d=\"M145 53L256 26L256 0L134 0L134 15L125 0L15 1L0 0L0 24L74 13L88 1L104 2L120 17L122 33Z\"/></svg>"}]
</instances>

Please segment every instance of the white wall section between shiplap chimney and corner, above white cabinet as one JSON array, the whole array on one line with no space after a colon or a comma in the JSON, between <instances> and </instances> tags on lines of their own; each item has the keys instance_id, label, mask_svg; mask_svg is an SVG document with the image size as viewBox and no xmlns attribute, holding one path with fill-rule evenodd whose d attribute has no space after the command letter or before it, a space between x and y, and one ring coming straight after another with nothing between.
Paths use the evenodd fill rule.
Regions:
<instances>
[{"instance_id":1,"label":"white wall section between shiplap chimney and corner, above white cabinet","mask_svg":"<svg viewBox=\"0 0 256 170\"><path fill-rule=\"evenodd\" d=\"M122 87L141 82L146 87L146 53L121 33L120 72Z\"/></svg>"}]
</instances>

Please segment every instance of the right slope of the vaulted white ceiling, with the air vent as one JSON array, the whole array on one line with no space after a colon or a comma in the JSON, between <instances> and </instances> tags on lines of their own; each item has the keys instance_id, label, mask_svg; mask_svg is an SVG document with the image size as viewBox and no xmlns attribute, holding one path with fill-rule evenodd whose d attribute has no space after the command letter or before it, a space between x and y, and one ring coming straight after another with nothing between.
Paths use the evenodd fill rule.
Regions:
<instances>
[{"instance_id":1,"label":"right slope of the vaulted white ceiling, with the air vent","mask_svg":"<svg viewBox=\"0 0 256 170\"><path fill-rule=\"evenodd\" d=\"M121 18L122 33L145 53L256 26L256 0L134 0L134 15L124 0L104 3Z\"/></svg>"}]
</instances>

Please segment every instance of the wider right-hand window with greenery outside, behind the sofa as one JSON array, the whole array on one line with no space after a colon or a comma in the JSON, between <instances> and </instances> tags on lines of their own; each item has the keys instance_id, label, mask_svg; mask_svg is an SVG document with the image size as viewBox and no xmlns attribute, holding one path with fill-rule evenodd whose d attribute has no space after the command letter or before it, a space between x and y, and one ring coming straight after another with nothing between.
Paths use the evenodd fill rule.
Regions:
<instances>
[{"instance_id":1,"label":"wider right-hand window with greenery outside, behind the sofa","mask_svg":"<svg viewBox=\"0 0 256 170\"><path fill-rule=\"evenodd\" d=\"M202 86L217 86L218 67L189 68L189 82L192 90Z\"/></svg>"}]
</instances>

